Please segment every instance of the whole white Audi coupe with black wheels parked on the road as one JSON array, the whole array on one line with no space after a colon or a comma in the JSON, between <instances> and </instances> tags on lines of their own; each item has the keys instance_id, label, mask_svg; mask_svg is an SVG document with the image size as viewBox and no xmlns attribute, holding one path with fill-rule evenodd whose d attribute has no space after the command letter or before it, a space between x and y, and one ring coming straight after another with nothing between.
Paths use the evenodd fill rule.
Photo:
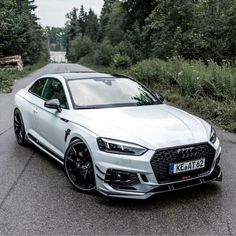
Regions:
<instances>
[{"instance_id":1,"label":"whole white Audi coupe with black wheels parked on the road","mask_svg":"<svg viewBox=\"0 0 236 236\"><path fill-rule=\"evenodd\" d=\"M146 199L221 181L214 128L163 100L122 75L49 74L16 94L15 134L82 192Z\"/></svg>"}]
</instances>

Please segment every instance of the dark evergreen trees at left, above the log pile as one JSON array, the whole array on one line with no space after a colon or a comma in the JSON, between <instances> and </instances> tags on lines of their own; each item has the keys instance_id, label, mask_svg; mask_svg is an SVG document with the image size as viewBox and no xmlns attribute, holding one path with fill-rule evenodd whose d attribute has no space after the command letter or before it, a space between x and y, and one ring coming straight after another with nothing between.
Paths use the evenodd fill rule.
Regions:
<instances>
[{"instance_id":1,"label":"dark evergreen trees at left, above the log pile","mask_svg":"<svg viewBox=\"0 0 236 236\"><path fill-rule=\"evenodd\" d=\"M0 3L0 56L21 55L24 64L48 59L46 36L34 14L34 0Z\"/></svg>"}]
</instances>

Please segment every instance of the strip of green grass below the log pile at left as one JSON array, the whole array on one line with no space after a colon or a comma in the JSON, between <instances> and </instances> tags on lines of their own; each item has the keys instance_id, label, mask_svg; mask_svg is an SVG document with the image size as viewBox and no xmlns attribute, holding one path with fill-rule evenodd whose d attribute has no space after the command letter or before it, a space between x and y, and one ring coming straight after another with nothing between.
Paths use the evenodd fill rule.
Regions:
<instances>
[{"instance_id":1,"label":"strip of green grass below the log pile at left","mask_svg":"<svg viewBox=\"0 0 236 236\"><path fill-rule=\"evenodd\" d=\"M22 71L18 70L0 70L0 93L10 93L16 80L19 80L35 70L43 67L45 63L41 62L31 66L25 66Z\"/></svg>"}]
</instances>

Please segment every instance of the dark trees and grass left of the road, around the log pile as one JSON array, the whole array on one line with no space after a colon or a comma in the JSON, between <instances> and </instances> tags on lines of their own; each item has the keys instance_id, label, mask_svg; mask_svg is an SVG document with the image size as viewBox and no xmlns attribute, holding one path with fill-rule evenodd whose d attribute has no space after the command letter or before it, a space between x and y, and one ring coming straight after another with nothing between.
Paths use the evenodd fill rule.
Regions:
<instances>
[{"instance_id":1,"label":"dark trees and grass left of the road, around the log pile","mask_svg":"<svg viewBox=\"0 0 236 236\"><path fill-rule=\"evenodd\" d=\"M34 0L0 2L0 57L20 55L23 71L0 70L0 92L9 92L16 79L38 69L49 60L45 30L38 24Z\"/></svg>"}]
</instances>

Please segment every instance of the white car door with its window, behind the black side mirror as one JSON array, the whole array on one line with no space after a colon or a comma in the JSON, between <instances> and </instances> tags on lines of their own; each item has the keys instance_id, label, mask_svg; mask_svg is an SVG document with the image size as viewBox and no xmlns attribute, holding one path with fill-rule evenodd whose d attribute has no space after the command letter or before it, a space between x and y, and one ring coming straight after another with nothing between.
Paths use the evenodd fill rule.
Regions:
<instances>
[{"instance_id":1,"label":"white car door with its window, behind the black side mirror","mask_svg":"<svg viewBox=\"0 0 236 236\"><path fill-rule=\"evenodd\" d=\"M69 107L60 80L48 78L41 94L41 101L35 107L35 131L40 135L41 142L56 154L64 156L65 133L69 129L67 117ZM45 102L57 98L60 101L62 111L49 109L44 106Z\"/></svg>"}]
</instances>

